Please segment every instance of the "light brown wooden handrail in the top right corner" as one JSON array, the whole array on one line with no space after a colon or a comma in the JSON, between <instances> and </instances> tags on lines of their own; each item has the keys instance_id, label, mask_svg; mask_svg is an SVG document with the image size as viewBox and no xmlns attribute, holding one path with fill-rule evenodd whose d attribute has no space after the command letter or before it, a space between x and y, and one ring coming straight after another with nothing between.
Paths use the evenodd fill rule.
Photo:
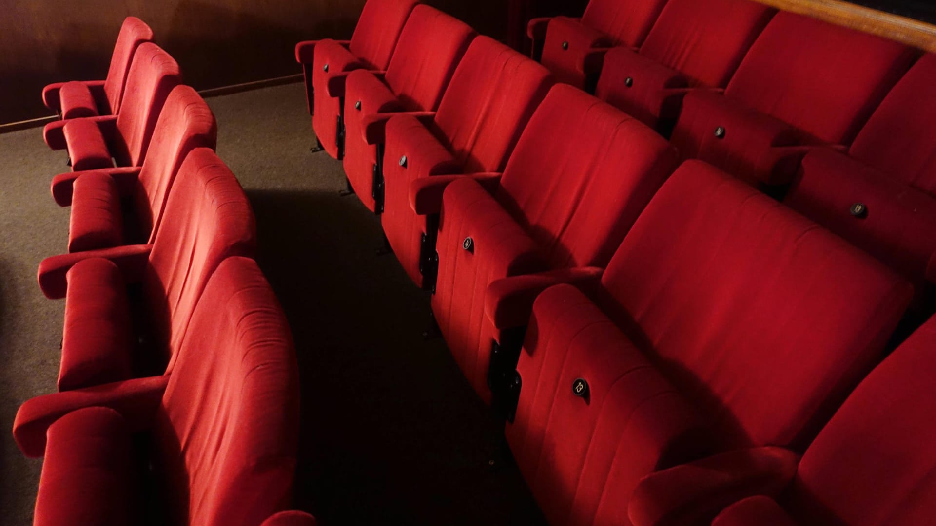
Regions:
<instances>
[{"instance_id":1,"label":"light brown wooden handrail in the top right corner","mask_svg":"<svg viewBox=\"0 0 936 526\"><path fill-rule=\"evenodd\" d=\"M936 52L936 25L841 0L753 0Z\"/></svg>"}]
</instances>

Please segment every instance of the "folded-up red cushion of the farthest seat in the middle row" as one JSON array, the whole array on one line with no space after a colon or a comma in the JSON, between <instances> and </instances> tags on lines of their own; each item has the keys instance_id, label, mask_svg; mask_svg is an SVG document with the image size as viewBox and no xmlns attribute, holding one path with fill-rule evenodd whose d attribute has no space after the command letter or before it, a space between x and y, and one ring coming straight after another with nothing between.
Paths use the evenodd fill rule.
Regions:
<instances>
[{"instance_id":1,"label":"folded-up red cushion of the farthest seat in the middle row","mask_svg":"<svg viewBox=\"0 0 936 526\"><path fill-rule=\"evenodd\" d=\"M315 112L312 115L312 127L322 147L336 159L338 158L338 121L342 117L342 107L341 98L329 95L329 79L337 74L364 66L366 65L361 59L336 40L325 38L315 44L312 72Z\"/></svg>"}]
</instances>

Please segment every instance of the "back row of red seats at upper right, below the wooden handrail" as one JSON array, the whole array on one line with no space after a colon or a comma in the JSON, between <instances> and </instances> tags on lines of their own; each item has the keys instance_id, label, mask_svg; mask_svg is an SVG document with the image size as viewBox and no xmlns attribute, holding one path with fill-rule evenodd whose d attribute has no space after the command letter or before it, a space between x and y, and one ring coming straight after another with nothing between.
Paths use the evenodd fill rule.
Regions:
<instances>
[{"instance_id":1,"label":"back row of red seats at upper right, below the wooden handrail","mask_svg":"<svg viewBox=\"0 0 936 526\"><path fill-rule=\"evenodd\" d=\"M936 56L750 0L592 0L536 19L557 78L899 270L936 280ZM918 298L917 309L925 307Z\"/></svg>"}]
</instances>

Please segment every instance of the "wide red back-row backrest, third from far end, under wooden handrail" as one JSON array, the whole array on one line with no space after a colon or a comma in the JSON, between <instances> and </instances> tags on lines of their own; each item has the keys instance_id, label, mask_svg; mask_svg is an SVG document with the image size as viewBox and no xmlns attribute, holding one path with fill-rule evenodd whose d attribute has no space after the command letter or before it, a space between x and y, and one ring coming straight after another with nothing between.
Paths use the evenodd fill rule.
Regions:
<instances>
[{"instance_id":1,"label":"wide red back-row backrest, third from far end, under wooden handrail","mask_svg":"<svg viewBox=\"0 0 936 526\"><path fill-rule=\"evenodd\" d=\"M913 58L893 40L782 11L724 95L793 124L808 141L850 144Z\"/></svg>"}]
</instances>

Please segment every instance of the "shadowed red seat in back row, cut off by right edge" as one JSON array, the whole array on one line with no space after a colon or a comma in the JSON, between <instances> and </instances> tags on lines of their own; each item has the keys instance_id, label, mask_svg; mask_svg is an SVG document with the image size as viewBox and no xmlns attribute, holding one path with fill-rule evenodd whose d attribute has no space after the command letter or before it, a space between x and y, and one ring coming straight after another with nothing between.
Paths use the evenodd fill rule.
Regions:
<instances>
[{"instance_id":1,"label":"shadowed red seat in back row, cut off by right edge","mask_svg":"<svg viewBox=\"0 0 936 526\"><path fill-rule=\"evenodd\" d=\"M936 282L936 83L927 54L871 115L848 154L806 155L784 201L878 257L919 292ZM856 208L857 207L857 208Z\"/></svg>"}]
</instances>

